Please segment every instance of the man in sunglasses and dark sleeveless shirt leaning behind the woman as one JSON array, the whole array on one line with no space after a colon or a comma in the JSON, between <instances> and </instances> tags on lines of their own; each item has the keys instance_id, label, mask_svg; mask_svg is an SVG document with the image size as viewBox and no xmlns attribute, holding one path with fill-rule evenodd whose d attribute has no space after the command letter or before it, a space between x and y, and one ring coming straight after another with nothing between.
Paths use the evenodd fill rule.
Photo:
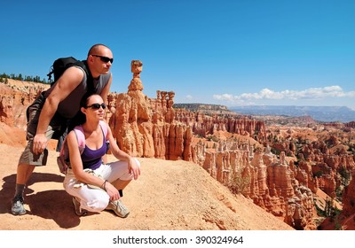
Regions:
<instances>
[{"instance_id":1,"label":"man in sunglasses and dark sleeveless shirt leaning behind the woman","mask_svg":"<svg viewBox=\"0 0 355 248\"><path fill-rule=\"evenodd\" d=\"M46 90L28 107L28 145L22 152L17 167L16 192L12 199L12 214L26 213L23 193L25 185L35 167L45 166L48 141L54 132L66 129L68 121L80 110L80 101L88 89L99 94L107 103L112 75L110 68L114 62L112 51L103 44L91 47L87 57L89 75L80 66L71 66L59 77L50 89ZM89 88L89 83L92 83Z\"/></svg>"}]
</instances>

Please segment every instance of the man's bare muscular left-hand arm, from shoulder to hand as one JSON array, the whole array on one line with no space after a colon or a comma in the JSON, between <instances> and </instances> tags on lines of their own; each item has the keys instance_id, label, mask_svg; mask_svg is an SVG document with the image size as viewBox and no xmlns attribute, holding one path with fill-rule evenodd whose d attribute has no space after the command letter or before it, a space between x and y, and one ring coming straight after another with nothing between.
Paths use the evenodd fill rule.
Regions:
<instances>
[{"instance_id":1,"label":"man's bare muscular left-hand arm, from shoulder to hand","mask_svg":"<svg viewBox=\"0 0 355 248\"><path fill-rule=\"evenodd\" d=\"M47 146L45 132L57 112L58 105L72 92L83 80L83 71L77 67L68 68L55 84L51 94L46 98L39 116L36 136L34 137L33 151L35 154L43 152Z\"/></svg>"}]
</instances>

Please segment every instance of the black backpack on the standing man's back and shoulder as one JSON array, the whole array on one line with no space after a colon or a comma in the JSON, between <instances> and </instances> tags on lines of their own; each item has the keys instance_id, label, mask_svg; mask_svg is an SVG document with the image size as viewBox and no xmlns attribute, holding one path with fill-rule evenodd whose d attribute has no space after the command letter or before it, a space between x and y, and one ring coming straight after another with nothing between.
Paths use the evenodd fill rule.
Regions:
<instances>
[{"instance_id":1,"label":"black backpack on the standing man's back and shoulder","mask_svg":"<svg viewBox=\"0 0 355 248\"><path fill-rule=\"evenodd\" d=\"M67 68L71 66L80 66L83 68L86 73L86 77L88 78L88 91L93 91L93 82L92 76L89 70L89 66L86 63L86 60L78 60L74 57L67 58L58 58L53 62L51 66L50 73L47 74L48 81L51 82L51 86L58 81L59 77L67 70ZM51 74L54 74L54 80L51 80Z\"/></svg>"}]
</instances>

